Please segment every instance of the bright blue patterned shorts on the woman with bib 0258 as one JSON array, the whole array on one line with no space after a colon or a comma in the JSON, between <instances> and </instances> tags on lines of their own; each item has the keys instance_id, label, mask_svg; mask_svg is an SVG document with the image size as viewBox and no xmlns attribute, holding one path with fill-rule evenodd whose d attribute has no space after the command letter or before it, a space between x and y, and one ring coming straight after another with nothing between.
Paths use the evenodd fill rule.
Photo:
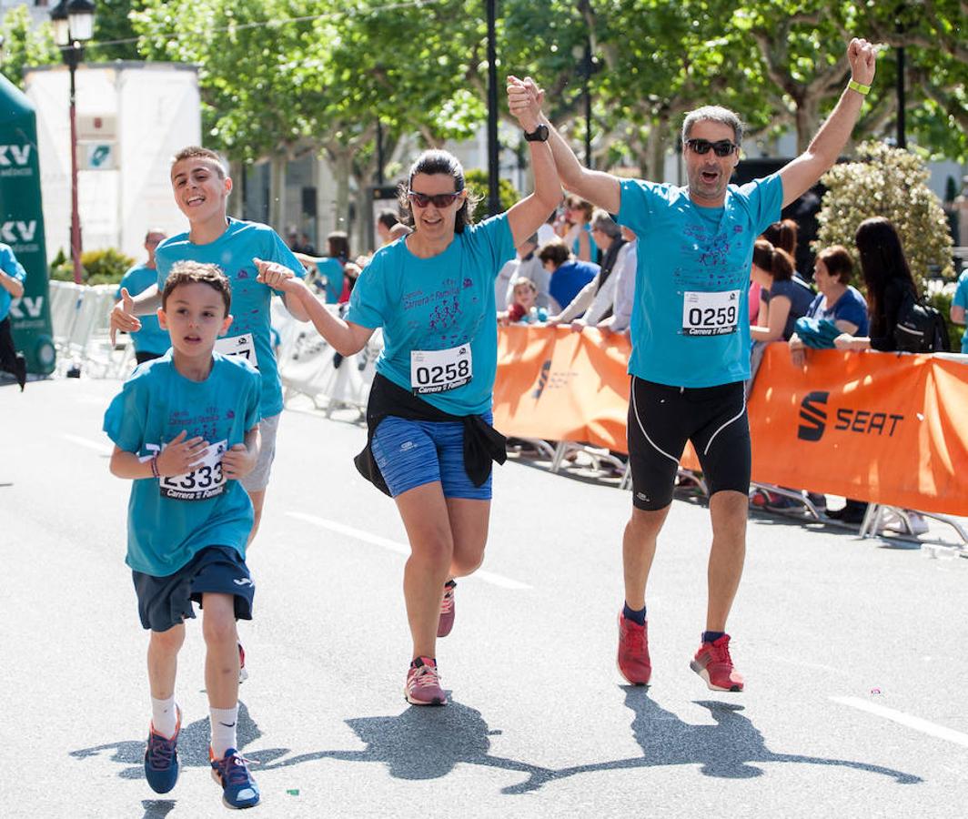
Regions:
<instances>
[{"instance_id":1,"label":"bright blue patterned shorts on the woman with bib 0258","mask_svg":"<svg viewBox=\"0 0 968 819\"><path fill-rule=\"evenodd\" d=\"M492 415L485 415L491 423ZM474 486L464 468L464 424L410 421L387 415L370 444L390 495L396 498L425 483L440 482L444 498L491 500L491 475Z\"/></svg>"}]
</instances>

